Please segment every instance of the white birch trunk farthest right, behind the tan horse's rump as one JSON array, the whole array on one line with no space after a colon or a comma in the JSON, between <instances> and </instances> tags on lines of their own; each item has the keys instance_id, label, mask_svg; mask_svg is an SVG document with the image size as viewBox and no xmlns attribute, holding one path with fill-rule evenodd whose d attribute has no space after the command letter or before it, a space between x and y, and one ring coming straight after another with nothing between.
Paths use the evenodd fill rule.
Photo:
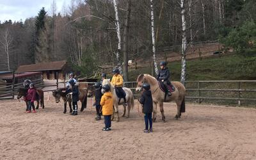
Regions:
<instances>
[{"instance_id":1,"label":"white birch trunk farthest right, behind the tan horse's rump","mask_svg":"<svg viewBox=\"0 0 256 160\"><path fill-rule=\"evenodd\" d=\"M180 82L185 84L186 81L186 49L187 49L187 38L186 38L186 19L185 19L185 6L184 0L180 0L181 8L181 19L182 19L182 48L181 48L181 75Z\"/></svg>"}]
</instances>

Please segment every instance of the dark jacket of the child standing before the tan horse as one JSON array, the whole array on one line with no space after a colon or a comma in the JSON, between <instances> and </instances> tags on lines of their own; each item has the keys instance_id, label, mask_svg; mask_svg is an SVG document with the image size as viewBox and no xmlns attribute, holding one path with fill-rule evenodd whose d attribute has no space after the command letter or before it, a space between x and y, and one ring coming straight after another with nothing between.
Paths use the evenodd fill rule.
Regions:
<instances>
[{"instance_id":1,"label":"dark jacket of the child standing before the tan horse","mask_svg":"<svg viewBox=\"0 0 256 160\"><path fill-rule=\"evenodd\" d=\"M152 113L153 111L153 99L152 99L152 94L151 91L143 91L139 102L143 106L143 113Z\"/></svg>"}]
</instances>

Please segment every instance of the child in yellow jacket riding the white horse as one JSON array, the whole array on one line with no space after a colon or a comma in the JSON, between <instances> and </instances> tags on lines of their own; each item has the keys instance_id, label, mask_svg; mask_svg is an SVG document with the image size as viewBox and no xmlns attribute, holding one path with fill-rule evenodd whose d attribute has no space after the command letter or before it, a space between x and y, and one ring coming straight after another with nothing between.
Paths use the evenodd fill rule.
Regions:
<instances>
[{"instance_id":1,"label":"child in yellow jacket riding the white horse","mask_svg":"<svg viewBox=\"0 0 256 160\"><path fill-rule=\"evenodd\" d=\"M121 74L119 73L118 68L113 69L113 74L114 76L112 77L111 83L113 84L113 86L115 86L115 90L116 90L116 95L118 95L118 98L123 98L124 99L124 105L127 106L127 102L126 102L126 94L123 90L123 84L124 84L124 79L121 76Z\"/></svg>"}]
</instances>

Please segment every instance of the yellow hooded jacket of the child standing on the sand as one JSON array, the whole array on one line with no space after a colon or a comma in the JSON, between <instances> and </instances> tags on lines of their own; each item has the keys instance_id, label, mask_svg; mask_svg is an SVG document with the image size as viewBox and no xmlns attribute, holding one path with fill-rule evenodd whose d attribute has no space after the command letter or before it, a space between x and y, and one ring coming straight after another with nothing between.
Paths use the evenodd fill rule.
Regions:
<instances>
[{"instance_id":1,"label":"yellow hooded jacket of the child standing on the sand","mask_svg":"<svg viewBox=\"0 0 256 160\"><path fill-rule=\"evenodd\" d=\"M106 92L100 99L100 106L102 106L102 115L113 114L113 95L111 92Z\"/></svg>"}]
</instances>

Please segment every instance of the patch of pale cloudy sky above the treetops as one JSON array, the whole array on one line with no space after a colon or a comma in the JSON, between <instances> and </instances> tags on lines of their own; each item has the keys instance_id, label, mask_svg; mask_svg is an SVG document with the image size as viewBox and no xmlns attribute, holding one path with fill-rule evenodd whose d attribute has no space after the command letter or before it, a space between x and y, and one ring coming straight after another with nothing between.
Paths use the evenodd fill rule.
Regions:
<instances>
[{"instance_id":1,"label":"patch of pale cloudy sky above the treetops","mask_svg":"<svg viewBox=\"0 0 256 160\"><path fill-rule=\"evenodd\" d=\"M70 4L70 0L55 0L57 13L61 12L63 3L65 6ZM0 0L0 20L11 19L24 22L26 18L35 17L42 7L45 7L47 13L51 14L52 0Z\"/></svg>"}]
</instances>

